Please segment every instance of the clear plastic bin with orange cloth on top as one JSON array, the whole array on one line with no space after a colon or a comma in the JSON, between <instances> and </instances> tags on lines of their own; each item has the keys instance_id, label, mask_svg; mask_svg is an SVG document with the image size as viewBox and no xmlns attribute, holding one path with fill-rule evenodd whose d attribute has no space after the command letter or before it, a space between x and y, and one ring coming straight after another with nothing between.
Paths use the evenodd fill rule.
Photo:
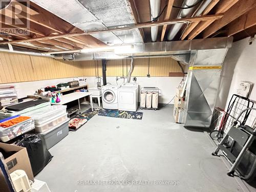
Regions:
<instances>
[{"instance_id":1,"label":"clear plastic bin with orange cloth on top","mask_svg":"<svg viewBox=\"0 0 256 192\"><path fill-rule=\"evenodd\" d=\"M8 128L0 127L0 140L3 142L7 142L33 129L35 129L35 124L34 120L31 118L23 122L17 123L15 125L12 125Z\"/></svg>"}]
</instances>

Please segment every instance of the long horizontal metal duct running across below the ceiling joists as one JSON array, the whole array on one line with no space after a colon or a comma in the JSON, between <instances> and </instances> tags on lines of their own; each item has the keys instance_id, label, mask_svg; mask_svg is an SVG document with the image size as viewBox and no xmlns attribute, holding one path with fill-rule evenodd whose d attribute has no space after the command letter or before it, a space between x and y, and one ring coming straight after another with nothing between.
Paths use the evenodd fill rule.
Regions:
<instances>
[{"instance_id":1,"label":"long horizontal metal duct running across below the ceiling joists","mask_svg":"<svg viewBox=\"0 0 256 192\"><path fill-rule=\"evenodd\" d=\"M195 50L228 49L233 37L217 37L179 41L147 42L136 44L131 51L118 49L115 52L76 53L74 60L122 59L124 57L173 57L182 63L189 63L190 53Z\"/></svg>"}]
</instances>

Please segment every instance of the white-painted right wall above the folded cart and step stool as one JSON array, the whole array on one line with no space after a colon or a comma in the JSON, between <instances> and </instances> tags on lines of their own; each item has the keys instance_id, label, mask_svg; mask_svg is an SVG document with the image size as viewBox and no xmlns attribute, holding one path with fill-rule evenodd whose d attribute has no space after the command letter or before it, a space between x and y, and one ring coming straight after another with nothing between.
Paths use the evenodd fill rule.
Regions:
<instances>
[{"instance_id":1,"label":"white-painted right wall above the folded cart and step stool","mask_svg":"<svg viewBox=\"0 0 256 192\"><path fill-rule=\"evenodd\" d=\"M254 83L249 99L256 101L256 41L249 45L249 39L234 42L225 58L216 104L223 109L227 108L231 96L236 94L240 81Z\"/></svg>"}]
</instances>

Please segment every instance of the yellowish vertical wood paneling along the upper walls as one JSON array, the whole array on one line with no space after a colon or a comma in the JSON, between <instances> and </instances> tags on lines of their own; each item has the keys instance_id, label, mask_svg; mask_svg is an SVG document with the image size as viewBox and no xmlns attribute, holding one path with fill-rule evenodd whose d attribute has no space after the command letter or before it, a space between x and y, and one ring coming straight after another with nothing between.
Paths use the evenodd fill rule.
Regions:
<instances>
[{"instance_id":1,"label":"yellowish vertical wood paneling along the upper walls","mask_svg":"<svg viewBox=\"0 0 256 192\"><path fill-rule=\"evenodd\" d=\"M109 60L106 76L126 76L131 59ZM133 76L167 77L181 72L177 61L170 57L134 59ZM101 61L64 61L48 57L0 53L0 83L35 81L77 76L102 76Z\"/></svg>"}]
</instances>

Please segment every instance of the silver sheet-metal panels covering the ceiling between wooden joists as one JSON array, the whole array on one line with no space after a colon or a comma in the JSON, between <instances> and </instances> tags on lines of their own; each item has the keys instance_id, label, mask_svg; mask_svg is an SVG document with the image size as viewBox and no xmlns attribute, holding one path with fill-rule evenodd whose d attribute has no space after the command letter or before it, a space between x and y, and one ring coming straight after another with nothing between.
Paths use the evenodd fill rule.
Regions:
<instances>
[{"instance_id":1,"label":"silver sheet-metal panels covering the ceiling between wooden joists","mask_svg":"<svg viewBox=\"0 0 256 192\"><path fill-rule=\"evenodd\" d=\"M32 0L32 2L83 31L135 24L131 7L126 0ZM97 33L92 36L107 45L143 42L138 29Z\"/></svg>"}]
</instances>

